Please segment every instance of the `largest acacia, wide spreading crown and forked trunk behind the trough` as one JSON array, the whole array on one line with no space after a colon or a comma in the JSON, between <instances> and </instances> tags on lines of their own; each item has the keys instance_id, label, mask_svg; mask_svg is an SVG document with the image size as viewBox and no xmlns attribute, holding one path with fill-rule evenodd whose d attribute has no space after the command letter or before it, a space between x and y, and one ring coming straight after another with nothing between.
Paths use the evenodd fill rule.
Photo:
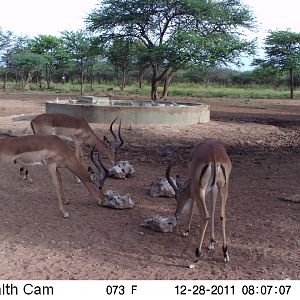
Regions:
<instances>
[{"instance_id":1,"label":"largest acacia, wide spreading crown and forked trunk behind the trough","mask_svg":"<svg viewBox=\"0 0 300 300\"><path fill-rule=\"evenodd\" d=\"M174 73L188 63L234 62L253 49L241 28L253 28L254 17L241 0L103 0L86 22L106 42L141 42L152 70L152 100L158 99L159 81L165 82L165 98Z\"/></svg>"}]
</instances>

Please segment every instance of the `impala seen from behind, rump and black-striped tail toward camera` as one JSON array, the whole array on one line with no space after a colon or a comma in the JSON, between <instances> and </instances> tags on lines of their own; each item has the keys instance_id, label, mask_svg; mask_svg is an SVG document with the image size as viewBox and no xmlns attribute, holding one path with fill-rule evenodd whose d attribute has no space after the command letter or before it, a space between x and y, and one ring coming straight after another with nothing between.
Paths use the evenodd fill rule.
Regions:
<instances>
[{"instance_id":1,"label":"impala seen from behind, rump and black-striped tail toward camera","mask_svg":"<svg viewBox=\"0 0 300 300\"><path fill-rule=\"evenodd\" d=\"M211 193L211 239L208 249L214 249L214 213L218 193L221 200L221 222L223 230L223 254L224 261L229 261L226 234L225 234L225 205L228 196L229 175L231 172L231 161L225 151L225 148L218 141L208 139L198 143L190 153L188 161L190 178L181 183L180 177L176 176L176 184L170 178L171 164L169 163L166 177L175 191L177 207L175 212L176 219L189 208L188 228L184 235L188 235L191 227L191 219L195 203L201 217L201 235L200 242L196 248L196 261L199 260L201 247L205 231L209 221L209 213L206 208L206 193Z\"/></svg>"}]
</instances>

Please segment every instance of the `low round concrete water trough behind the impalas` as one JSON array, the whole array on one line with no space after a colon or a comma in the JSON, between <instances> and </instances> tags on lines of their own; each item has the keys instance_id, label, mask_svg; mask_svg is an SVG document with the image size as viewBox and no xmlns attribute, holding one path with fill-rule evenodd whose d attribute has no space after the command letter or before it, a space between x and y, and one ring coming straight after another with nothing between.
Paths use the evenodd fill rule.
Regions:
<instances>
[{"instance_id":1,"label":"low round concrete water trough behind the impalas","mask_svg":"<svg viewBox=\"0 0 300 300\"><path fill-rule=\"evenodd\" d=\"M210 107L188 102L150 102L78 97L46 102L47 113L65 113L90 123L110 124L119 117L123 124L199 124L209 122Z\"/></svg>"}]
</instances>

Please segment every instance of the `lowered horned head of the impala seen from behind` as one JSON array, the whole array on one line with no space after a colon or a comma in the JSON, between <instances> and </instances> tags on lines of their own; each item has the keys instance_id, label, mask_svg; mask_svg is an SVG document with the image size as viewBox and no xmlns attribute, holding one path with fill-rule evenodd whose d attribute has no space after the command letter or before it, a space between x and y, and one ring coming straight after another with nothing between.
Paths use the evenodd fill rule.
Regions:
<instances>
[{"instance_id":1,"label":"lowered horned head of the impala seen from behind","mask_svg":"<svg viewBox=\"0 0 300 300\"><path fill-rule=\"evenodd\" d=\"M176 175L176 183L170 177L171 171L171 162L169 162L166 177L175 192L175 199L177 202L175 217L179 220L190 207L191 205L191 189L190 189L190 179L185 182L182 182L179 175Z\"/></svg>"}]
</instances>

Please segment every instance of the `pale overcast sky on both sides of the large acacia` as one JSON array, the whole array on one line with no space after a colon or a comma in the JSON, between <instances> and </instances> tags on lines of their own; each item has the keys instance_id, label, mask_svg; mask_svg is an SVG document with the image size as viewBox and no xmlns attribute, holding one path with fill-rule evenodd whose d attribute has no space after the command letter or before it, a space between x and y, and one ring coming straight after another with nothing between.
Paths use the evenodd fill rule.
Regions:
<instances>
[{"instance_id":1,"label":"pale overcast sky on both sides of the large acacia","mask_svg":"<svg viewBox=\"0 0 300 300\"><path fill-rule=\"evenodd\" d=\"M259 45L269 30L300 32L300 0L242 0L257 18ZM84 28L84 18L99 0L0 0L0 27L17 35L59 36L64 30Z\"/></svg>"}]
</instances>

